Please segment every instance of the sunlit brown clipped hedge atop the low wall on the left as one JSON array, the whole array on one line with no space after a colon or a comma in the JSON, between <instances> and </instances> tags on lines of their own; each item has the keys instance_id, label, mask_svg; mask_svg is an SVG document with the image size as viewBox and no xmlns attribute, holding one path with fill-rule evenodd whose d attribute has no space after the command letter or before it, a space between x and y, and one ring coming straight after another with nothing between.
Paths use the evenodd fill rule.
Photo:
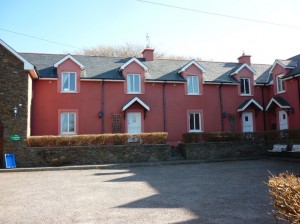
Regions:
<instances>
[{"instance_id":1,"label":"sunlit brown clipped hedge atop the low wall on the left","mask_svg":"<svg viewBox=\"0 0 300 224\"><path fill-rule=\"evenodd\" d=\"M164 144L168 133L154 132L141 134L100 134L68 136L31 136L27 139L29 147L58 146L97 146L126 144Z\"/></svg>"}]
</instances>

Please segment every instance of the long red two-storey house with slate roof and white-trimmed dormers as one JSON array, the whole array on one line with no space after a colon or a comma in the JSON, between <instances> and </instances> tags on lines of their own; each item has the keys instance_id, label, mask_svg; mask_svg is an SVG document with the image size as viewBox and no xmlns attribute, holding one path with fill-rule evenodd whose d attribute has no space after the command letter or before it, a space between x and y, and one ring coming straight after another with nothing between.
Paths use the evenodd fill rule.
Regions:
<instances>
[{"instance_id":1,"label":"long red two-storey house with slate roof and white-trimmed dormers","mask_svg":"<svg viewBox=\"0 0 300 224\"><path fill-rule=\"evenodd\" d=\"M0 42L1 44L1 42ZM31 135L300 128L300 55L252 64L22 53L35 66Z\"/></svg>"}]
</instances>

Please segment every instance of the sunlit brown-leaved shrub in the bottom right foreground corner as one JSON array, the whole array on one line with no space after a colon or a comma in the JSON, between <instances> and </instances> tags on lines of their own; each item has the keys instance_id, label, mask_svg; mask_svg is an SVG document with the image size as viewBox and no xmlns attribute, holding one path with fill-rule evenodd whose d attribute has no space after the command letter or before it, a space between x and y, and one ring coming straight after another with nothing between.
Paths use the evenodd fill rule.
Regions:
<instances>
[{"instance_id":1,"label":"sunlit brown-leaved shrub in the bottom right foreground corner","mask_svg":"<svg viewBox=\"0 0 300 224\"><path fill-rule=\"evenodd\" d=\"M272 175L268 182L277 221L300 223L300 178L294 174Z\"/></svg>"}]
</instances>

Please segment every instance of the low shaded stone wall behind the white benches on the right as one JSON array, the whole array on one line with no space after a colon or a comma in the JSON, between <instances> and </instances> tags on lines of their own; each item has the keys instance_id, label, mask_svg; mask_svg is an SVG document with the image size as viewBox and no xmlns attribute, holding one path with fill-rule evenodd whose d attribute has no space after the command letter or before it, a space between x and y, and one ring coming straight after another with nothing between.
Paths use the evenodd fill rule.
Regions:
<instances>
[{"instance_id":1,"label":"low shaded stone wall behind the white benches on the right","mask_svg":"<svg viewBox=\"0 0 300 224\"><path fill-rule=\"evenodd\" d=\"M300 144L298 141L240 141L240 142L201 142L181 144L180 150L187 160L232 159L261 156L298 157L297 153L268 152L274 144Z\"/></svg>"}]
</instances>

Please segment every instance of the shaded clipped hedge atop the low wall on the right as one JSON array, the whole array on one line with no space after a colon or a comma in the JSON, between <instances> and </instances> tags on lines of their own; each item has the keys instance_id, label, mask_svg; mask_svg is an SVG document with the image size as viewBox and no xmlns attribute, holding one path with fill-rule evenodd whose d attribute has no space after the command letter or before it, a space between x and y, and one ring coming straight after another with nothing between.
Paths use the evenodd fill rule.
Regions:
<instances>
[{"instance_id":1,"label":"shaded clipped hedge atop the low wall on the right","mask_svg":"<svg viewBox=\"0 0 300 224\"><path fill-rule=\"evenodd\" d=\"M184 133L182 135L184 143L197 142L227 142L227 141L271 141L271 140L295 140L300 139L300 129L290 129L283 131L264 131L253 133L237 132L201 132Z\"/></svg>"}]
</instances>

